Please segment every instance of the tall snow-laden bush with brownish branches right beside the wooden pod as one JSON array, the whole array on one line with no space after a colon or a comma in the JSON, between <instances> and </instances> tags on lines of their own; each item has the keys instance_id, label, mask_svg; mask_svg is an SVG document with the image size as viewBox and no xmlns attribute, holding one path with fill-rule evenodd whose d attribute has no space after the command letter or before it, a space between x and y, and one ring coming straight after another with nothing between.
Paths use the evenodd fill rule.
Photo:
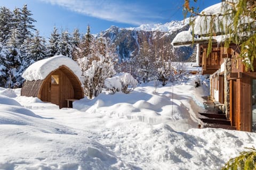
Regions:
<instances>
[{"instance_id":1,"label":"tall snow-laden bush with brownish branches right beside the wooden pod","mask_svg":"<svg viewBox=\"0 0 256 170\"><path fill-rule=\"evenodd\" d=\"M90 30L87 30L85 38L77 47L75 58L82 69L84 93L91 99L101 93L105 80L116 73L116 54L106 38L95 39L89 35Z\"/></svg>"}]
</instances>

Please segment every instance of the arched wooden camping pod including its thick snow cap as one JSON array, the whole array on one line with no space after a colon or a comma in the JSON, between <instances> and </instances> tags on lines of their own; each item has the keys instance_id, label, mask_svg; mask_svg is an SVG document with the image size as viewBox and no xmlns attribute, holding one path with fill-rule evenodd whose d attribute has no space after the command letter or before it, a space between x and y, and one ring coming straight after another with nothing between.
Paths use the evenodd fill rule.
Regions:
<instances>
[{"instance_id":1,"label":"arched wooden camping pod including its thick snow cap","mask_svg":"<svg viewBox=\"0 0 256 170\"><path fill-rule=\"evenodd\" d=\"M70 101L84 97L81 69L66 56L54 56L31 64L22 77L26 80L21 96L38 97L42 101L68 107Z\"/></svg>"}]
</instances>

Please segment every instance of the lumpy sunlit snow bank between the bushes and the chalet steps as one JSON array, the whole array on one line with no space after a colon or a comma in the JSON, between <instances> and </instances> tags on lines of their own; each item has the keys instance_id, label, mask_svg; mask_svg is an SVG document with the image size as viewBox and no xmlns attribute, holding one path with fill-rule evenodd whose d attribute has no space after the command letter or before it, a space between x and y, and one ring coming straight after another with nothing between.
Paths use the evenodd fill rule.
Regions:
<instances>
[{"instance_id":1,"label":"lumpy sunlit snow bank between the bushes and the chalet steps","mask_svg":"<svg viewBox=\"0 0 256 170\"><path fill-rule=\"evenodd\" d=\"M190 81L187 88L195 89L195 79ZM153 87L153 84L151 86ZM174 88L178 89L179 87ZM171 93L172 86L170 84L161 87L157 94L154 89L149 89L151 89L150 86L142 86L135 88L131 94L122 94L121 92L117 92L115 95L100 94L92 100L84 98L75 101L73 108L87 113L105 113L111 117L124 117L149 124L166 123L175 131L187 131L201 124L193 112L202 108L190 107L192 103L194 103L193 106L196 106L197 96L193 94L193 91L183 94L183 89L179 89L178 91L184 96L179 97L177 94Z\"/></svg>"}]
</instances>

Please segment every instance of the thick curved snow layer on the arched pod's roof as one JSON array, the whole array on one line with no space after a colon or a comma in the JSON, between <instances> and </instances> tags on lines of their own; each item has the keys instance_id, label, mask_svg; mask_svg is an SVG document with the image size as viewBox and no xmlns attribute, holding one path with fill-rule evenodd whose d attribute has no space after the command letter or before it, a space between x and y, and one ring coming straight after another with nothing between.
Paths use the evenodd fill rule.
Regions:
<instances>
[{"instance_id":1,"label":"thick curved snow layer on the arched pod's roof","mask_svg":"<svg viewBox=\"0 0 256 170\"><path fill-rule=\"evenodd\" d=\"M22 78L28 81L44 80L52 71L60 66L67 66L78 79L81 78L82 71L78 64L69 57L58 55L31 64L22 74Z\"/></svg>"}]
</instances>

